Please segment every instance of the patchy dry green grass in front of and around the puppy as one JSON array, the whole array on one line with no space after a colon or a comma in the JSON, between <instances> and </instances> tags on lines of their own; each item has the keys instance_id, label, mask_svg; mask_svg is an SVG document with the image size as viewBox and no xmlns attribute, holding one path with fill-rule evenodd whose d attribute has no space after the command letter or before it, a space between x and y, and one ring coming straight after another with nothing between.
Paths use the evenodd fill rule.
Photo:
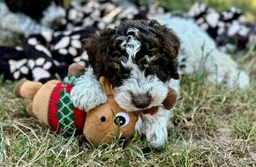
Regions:
<instances>
[{"instance_id":1,"label":"patchy dry green grass in front of and around the puppy","mask_svg":"<svg viewBox=\"0 0 256 167\"><path fill-rule=\"evenodd\" d=\"M255 45L232 56L251 76L246 90L208 84L204 73L183 76L181 98L161 150L143 143L95 149L83 137L64 138L29 117L0 82L1 166L254 166L256 164ZM144 153L143 153L144 151Z\"/></svg>"}]
</instances>

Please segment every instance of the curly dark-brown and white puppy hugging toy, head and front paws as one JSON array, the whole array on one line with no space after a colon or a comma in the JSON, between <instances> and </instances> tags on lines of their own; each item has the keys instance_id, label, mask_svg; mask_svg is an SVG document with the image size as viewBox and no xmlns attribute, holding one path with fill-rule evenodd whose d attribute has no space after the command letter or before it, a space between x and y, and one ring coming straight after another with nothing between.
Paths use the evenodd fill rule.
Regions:
<instances>
[{"instance_id":1,"label":"curly dark-brown and white puppy hugging toy, head and front paws","mask_svg":"<svg viewBox=\"0 0 256 167\"><path fill-rule=\"evenodd\" d=\"M179 46L176 34L155 20L125 21L114 29L102 30L85 41L89 69L93 70L79 78L71 93L72 102L85 110L104 103L107 98L97 80L106 76L124 110L159 106L153 116L144 114L136 129L147 136L152 147L161 147L167 138L170 114L162 102L169 92L169 81L178 79ZM85 85L87 80L92 82Z\"/></svg>"}]
</instances>

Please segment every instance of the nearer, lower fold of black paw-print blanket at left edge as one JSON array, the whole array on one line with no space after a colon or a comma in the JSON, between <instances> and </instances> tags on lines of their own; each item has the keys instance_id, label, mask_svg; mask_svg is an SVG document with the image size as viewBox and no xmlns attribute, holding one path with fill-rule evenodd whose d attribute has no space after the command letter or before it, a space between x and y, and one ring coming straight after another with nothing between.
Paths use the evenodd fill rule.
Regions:
<instances>
[{"instance_id":1,"label":"nearer, lower fold of black paw-print blanket at left edge","mask_svg":"<svg viewBox=\"0 0 256 167\"><path fill-rule=\"evenodd\" d=\"M87 52L83 52L81 41L92 33L94 30L83 29L32 34L23 48L0 47L0 72L9 80L22 77L41 82L63 79L72 62L82 65L87 62Z\"/></svg>"}]
</instances>

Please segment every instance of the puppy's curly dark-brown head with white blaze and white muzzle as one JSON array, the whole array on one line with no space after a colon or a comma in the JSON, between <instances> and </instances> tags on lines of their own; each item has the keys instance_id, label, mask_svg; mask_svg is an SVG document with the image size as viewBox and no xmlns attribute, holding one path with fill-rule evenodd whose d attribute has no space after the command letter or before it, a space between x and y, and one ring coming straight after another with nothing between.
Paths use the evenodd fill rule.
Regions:
<instances>
[{"instance_id":1,"label":"puppy's curly dark-brown head with white blaze and white muzzle","mask_svg":"<svg viewBox=\"0 0 256 167\"><path fill-rule=\"evenodd\" d=\"M109 78L124 110L161 105L169 79L178 78L179 40L157 21L126 21L85 40L89 63L97 77Z\"/></svg>"}]
</instances>

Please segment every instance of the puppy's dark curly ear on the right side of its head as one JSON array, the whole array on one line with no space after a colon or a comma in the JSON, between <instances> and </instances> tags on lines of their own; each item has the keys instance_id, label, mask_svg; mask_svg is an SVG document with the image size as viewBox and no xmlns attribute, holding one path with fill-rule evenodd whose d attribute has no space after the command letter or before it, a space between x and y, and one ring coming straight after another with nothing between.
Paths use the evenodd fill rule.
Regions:
<instances>
[{"instance_id":1,"label":"puppy's dark curly ear on the right side of its head","mask_svg":"<svg viewBox=\"0 0 256 167\"><path fill-rule=\"evenodd\" d=\"M162 52L171 63L169 66L170 76L174 79L178 79L177 54L180 47L179 38L176 33L165 25L160 25L156 20L151 20L149 25L154 27L157 34L156 37L162 41Z\"/></svg>"}]
</instances>

